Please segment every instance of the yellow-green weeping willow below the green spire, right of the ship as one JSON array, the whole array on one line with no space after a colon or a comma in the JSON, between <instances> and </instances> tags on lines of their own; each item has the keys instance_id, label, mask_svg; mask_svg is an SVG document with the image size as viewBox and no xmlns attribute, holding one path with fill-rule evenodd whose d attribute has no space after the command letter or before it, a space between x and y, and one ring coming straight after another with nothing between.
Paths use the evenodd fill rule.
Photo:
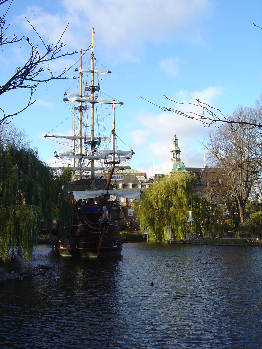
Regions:
<instances>
[{"instance_id":1,"label":"yellow-green weeping willow below the green spire, right of the ship","mask_svg":"<svg viewBox=\"0 0 262 349\"><path fill-rule=\"evenodd\" d=\"M171 225L172 239L185 235L185 222L189 205L201 212L199 195L192 194L197 178L188 172L174 172L170 178L163 178L133 202L140 227L147 231L149 241L168 239L168 225Z\"/></svg>"}]
</instances>

